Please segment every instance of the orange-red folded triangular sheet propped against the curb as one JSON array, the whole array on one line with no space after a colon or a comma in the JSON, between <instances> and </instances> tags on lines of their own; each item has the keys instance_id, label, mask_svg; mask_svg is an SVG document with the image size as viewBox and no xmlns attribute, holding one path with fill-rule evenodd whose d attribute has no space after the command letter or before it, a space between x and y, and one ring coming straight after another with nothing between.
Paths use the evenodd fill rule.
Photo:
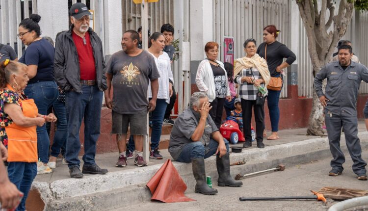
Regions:
<instances>
[{"instance_id":1,"label":"orange-red folded triangular sheet propped against the curb","mask_svg":"<svg viewBox=\"0 0 368 211\"><path fill-rule=\"evenodd\" d=\"M186 185L170 159L166 160L146 186L150 188L151 200L164 203L195 201L184 195Z\"/></svg>"}]
</instances>

